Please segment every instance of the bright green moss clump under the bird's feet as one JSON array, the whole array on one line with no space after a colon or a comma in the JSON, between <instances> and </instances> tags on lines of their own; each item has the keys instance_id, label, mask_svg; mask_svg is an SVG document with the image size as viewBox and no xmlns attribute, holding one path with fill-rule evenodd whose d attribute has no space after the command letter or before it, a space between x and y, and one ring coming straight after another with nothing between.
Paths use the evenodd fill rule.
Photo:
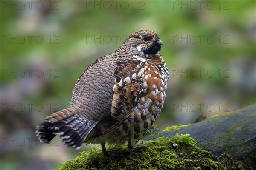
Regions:
<instances>
[{"instance_id":1,"label":"bright green moss clump under the bird's feet","mask_svg":"<svg viewBox=\"0 0 256 170\"><path fill-rule=\"evenodd\" d=\"M172 146L172 142L177 147ZM58 170L160 170L160 169L224 169L218 158L197 147L188 134L175 135L171 139L160 137L143 141L143 151L129 150L126 146L101 153L97 147L81 152L75 159L61 164Z\"/></svg>"}]
</instances>

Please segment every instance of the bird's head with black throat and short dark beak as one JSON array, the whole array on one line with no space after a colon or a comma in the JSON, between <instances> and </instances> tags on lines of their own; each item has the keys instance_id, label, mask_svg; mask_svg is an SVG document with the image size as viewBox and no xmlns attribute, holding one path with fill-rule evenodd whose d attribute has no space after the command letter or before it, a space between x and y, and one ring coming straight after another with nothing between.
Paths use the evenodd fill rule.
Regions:
<instances>
[{"instance_id":1,"label":"bird's head with black throat and short dark beak","mask_svg":"<svg viewBox=\"0 0 256 170\"><path fill-rule=\"evenodd\" d=\"M140 54L150 58L161 49L163 42L157 34L151 30L140 30L132 33L124 42L128 48L134 48Z\"/></svg>"}]
</instances>

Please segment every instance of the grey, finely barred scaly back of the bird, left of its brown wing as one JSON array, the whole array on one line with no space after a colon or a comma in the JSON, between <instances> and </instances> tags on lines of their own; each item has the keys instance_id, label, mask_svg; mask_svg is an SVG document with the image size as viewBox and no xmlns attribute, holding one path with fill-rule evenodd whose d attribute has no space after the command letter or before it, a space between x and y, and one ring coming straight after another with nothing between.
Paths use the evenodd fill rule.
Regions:
<instances>
[{"instance_id":1,"label":"grey, finely barred scaly back of the bird, left of its brown wing","mask_svg":"<svg viewBox=\"0 0 256 170\"><path fill-rule=\"evenodd\" d=\"M110 56L102 57L79 77L70 102L79 117L99 121L111 114L115 67Z\"/></svg>"}]
</instances>

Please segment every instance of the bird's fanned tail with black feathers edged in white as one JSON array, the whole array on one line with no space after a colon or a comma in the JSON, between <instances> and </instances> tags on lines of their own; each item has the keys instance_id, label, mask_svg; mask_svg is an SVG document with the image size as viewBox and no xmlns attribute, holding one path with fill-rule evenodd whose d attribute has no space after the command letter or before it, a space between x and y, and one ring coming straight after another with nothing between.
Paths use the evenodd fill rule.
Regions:
<instances>
[{"instance_id":1,"label":"bird's fanned tail with black feathers edged in white","mask_svg":"<svg viewBox=\"0 0 256 170\"><path fill-rule=\"evenodd\" d=\"M47 116L46 120L36 127L36 136L40 142L49 143L56 135L60 135L68 147L79 149L98 121L81 118L71 113L68 114L69 116L63 116L64 110Z\"/></svg>"}]
</instances>

